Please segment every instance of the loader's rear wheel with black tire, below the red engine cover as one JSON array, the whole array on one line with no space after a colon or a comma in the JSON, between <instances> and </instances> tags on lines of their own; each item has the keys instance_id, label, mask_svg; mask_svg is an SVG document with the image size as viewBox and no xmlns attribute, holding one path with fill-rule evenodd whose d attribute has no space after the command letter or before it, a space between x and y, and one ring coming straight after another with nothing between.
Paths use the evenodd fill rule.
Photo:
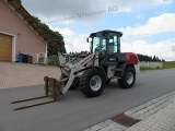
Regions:
<instances>
[{"instance_id":1,"label":"loader's rear wheel with black tire, below the red engine cover","mask_svg":"<svg viewBox=\"0 0 175 131\"><path fill-rule=\"evenodd\" d=\"M118 79L118 84L122 88L131 88L135 85L136 72L133 68L127 68L124 72L124 76Z\"/></svg>"}]
</instances>

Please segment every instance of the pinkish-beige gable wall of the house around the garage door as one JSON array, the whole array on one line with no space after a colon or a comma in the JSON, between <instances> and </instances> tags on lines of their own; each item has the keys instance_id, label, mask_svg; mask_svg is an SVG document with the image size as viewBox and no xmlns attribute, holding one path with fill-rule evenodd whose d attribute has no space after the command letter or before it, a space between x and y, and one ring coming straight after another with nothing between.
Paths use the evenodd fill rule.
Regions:
<instances>
[{"instance_id":1,"label":"pinkish-beige gable wall of the house around the garage door","mask_svg":"<svg viewBox=\"0 0 175 131\"><path fill-rule=\"evenodd\" d=\"M46 43L3 0L0 0L0 33L13 36L15 59L22 52L32 55L36 61L37 52L46 52Z\"/></svg>"}]
</instances>

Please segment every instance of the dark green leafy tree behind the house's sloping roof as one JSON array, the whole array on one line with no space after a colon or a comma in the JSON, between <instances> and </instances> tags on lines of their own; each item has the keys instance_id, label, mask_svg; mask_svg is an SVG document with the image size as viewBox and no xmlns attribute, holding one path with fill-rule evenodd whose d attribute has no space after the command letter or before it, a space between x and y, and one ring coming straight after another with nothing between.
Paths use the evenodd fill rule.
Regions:
<instances>
[{"instance_id":1,"label":"dark green leafy tree behind the house's sloping roof","mask_svg":"<svg viewBox=\"0 0 175 131\"><path fill-rule=\"evenodd\" d=\"M48 47L48 56L58 55L58 51L66 52L65 40L62 35L59 32L54 32L49 28L48 25L42 23L40 20L36 16L33 16L38 25L52 38L52 40L57 44L54 48Z\"/></svg>"}]
</instances>

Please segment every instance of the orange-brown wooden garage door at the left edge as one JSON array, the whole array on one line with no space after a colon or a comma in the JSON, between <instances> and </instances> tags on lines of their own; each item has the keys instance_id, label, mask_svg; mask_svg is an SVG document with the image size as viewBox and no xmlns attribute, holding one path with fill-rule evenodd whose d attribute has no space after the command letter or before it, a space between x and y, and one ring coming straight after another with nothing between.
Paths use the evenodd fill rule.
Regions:
<instances>
[{"instance_id":1,"label":"orange-brown wooden garage door at the left edge","mask_svg":"<svg viewBox=\"0 0 175 131\"><path fill-rule=\"evenodd\" d=\"M0 60L12 61L12 37L0 34Z\"/></svg>"}]
</instances>

